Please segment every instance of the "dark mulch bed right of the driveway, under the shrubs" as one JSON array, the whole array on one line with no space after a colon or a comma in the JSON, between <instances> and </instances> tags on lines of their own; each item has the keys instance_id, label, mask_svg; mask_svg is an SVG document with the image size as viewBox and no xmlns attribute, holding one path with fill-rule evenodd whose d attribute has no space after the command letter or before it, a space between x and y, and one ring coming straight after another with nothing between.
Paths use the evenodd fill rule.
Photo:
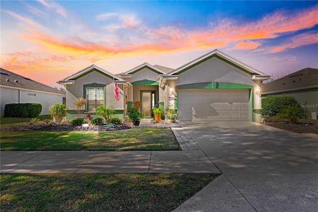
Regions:
<instances>
[{"instance_id":1,"label":"dark mulch bed right of the driveway, under the shrubs","mask_svg":"<svg viewBox=\"0 0 318 212\"><path fill-rule=\"evenodd\" d=\"M259 122L261 123L261 122ZM308 124L307 126L304 124L291 124L286 122L267 122L262 123L268 126L276 127L279 129L284 129L297 133L314 133L318 134L318 125L317 124Z\"/></svg>"}]
</instances>

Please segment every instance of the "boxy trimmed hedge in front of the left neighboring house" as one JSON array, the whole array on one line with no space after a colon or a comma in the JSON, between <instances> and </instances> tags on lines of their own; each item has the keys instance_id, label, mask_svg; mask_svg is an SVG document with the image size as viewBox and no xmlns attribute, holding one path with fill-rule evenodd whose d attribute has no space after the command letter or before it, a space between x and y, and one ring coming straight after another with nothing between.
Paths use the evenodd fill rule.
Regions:
<instances>
[{"instance_id":1,"label":"boxy trimmed hedge in front of the left neighboring house","mask_svg":"<svg viewBox=\"0 0 318 212\"><path fill-rule=\"evenodd\" d=\"M17 103L4 106L4 117L35 118L42 111L39 103Z\"/></svg>"}]
</instances>

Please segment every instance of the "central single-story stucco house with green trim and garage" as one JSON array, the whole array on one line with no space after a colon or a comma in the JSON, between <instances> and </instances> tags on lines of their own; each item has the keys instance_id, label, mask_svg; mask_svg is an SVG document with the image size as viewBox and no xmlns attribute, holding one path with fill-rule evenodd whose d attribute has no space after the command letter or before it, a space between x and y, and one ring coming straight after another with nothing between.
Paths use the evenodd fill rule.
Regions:
<instances>
[{"instance_id":1,"label":"central single-story stucco house with green trim and garage","mask_svg":"<svg viewBox=\"0 0 318 212\"><path fill-rule=\"evenodd\" d=\"M270 77L238 60L214 50L177 69L143 63L113 75L91 65L61 81L66 85L68 119L77 116L74 102L86 98L85 113L96 107L113 106L117 115L127 114L135 101L151 116L154 106L173 105L179 121L260 120L261 81ZM114 84L119 101L114 98Z\"/></svg>"}]
</instances>

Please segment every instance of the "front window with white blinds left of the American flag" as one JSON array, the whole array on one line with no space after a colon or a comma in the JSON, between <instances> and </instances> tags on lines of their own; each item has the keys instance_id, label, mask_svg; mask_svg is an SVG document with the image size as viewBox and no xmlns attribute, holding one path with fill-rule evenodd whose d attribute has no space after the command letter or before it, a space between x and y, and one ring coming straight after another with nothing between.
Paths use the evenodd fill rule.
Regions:
<instances>
[{"instance_id":1,"label":"front window with white blinds left of the American flag","mask_svg":"<svg viewBox=\"0 0 318 212\"><path fill-rule=\"evenodd\" d=\"M86 88L86 108L87 111L95 110L99 106L104 105L104 89L103 88Z\"/></svg>"}]
</instances>

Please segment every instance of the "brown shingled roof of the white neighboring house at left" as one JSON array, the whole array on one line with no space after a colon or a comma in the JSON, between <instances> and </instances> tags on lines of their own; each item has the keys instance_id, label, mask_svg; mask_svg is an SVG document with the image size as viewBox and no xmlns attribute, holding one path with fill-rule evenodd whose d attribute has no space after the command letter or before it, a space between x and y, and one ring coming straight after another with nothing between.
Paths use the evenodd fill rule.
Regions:
<instances>
[{"instance_id":1,"label":"brown shingled roof of the white neighboring house at left","mask_svg":"<svg viewBox=\"0 0 318 212\"><path fill-rule=\"evenodd\" d=\"M54 94L63 94L65 92L52 88L50 86L41 84L34 80L31 80L27 77L23 77L18 74L14 74L13 72L7 71L5 69L0 69L0 85L1 86L9 86L20 89L27 89L32 91L41 91L41 92L49 92Z\"/></svg>"}]
</instances>

